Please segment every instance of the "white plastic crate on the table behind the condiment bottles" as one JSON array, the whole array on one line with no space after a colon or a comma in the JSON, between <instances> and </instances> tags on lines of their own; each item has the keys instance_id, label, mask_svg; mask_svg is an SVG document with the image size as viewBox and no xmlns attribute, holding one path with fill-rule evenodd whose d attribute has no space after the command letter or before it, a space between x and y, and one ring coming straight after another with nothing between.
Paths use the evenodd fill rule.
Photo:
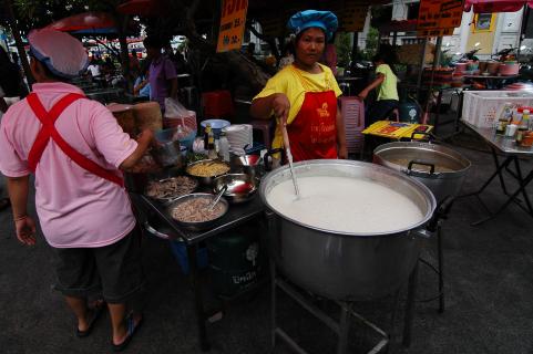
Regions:
<instances>
[{"instance_id":1,"label":"white plastic crate on the table behind the condiment bottles","mask_svg":"<svg viewBox=\"0 0 533 354\"><path fill-rule=\"evenodd\" d=\"M503 105L533 104L533 93L510 91L464 91L462 119L473 126L493 127Z\"/></svg>"}]
</instances>

